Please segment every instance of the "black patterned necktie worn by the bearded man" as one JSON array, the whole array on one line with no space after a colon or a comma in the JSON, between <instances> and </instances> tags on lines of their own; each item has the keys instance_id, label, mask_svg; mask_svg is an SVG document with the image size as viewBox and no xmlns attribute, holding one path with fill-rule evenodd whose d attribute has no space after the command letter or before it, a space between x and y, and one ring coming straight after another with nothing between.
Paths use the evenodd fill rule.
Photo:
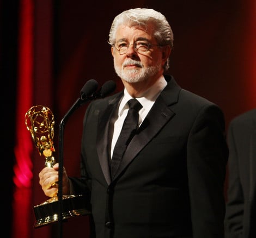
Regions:
<instances>
[{"instance_id":1,"label":"black patterned necktie worn by the bearded man","mask_svg":"<svg viewBox=\"0 0 256 238\"><path fill-rule=\"evenodd\" d=\"M129 111L125 117L121 133L118 137L117 143L115 144L113 156L111 160L111 177L113 179L115 173L121 162L121 158L125 152L125 149L131 141L133 135L135 135L138 128L139 110L142 108L141 103L136 98L132 98L128 101Z\"/></svg>"}]
</instances>

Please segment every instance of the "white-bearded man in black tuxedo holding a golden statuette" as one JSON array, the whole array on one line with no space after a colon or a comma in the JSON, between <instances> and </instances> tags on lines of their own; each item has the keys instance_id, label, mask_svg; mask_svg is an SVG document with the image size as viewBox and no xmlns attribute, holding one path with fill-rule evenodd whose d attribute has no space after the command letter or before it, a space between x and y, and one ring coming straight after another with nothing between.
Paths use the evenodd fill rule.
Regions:
<instances>
[{"instance_id":1,"label":"white-bearded man in black tuxedo holding a golden statuette","mask_svg":"<svg viewBox=\"0 0 256 238\"><path fill-rule=\"evenodd\" d=\"M223 237L223 112L163 75L173 33L160 12L122 12L109 44L124 90L89 104L82 178L68 178L64 170L63 193L90 196L96 237ZM138 129L114 171L114 147L131 98L140 104ZM56 195L51 184L58 180L58 164L39 177L45 195Z\"/></svg>"}]
</instances>

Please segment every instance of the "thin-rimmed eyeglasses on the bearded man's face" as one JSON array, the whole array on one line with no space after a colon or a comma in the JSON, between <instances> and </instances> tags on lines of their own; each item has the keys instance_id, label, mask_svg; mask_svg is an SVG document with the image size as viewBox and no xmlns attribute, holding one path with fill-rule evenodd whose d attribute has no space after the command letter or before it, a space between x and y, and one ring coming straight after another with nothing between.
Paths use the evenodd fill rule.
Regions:
<instances>
[{"instance_id":1,"label":"thin-rimmed eyeglasses on the bearded man's face","mask_svg":"<svg viewBox=\"0 0 256 238\"><path fill-rule=\"evenodd\" d=\"M138 52L138 53L145 53L149 50L151 46L159 46L162 47L161 45L154 45L150 43L146 43L143 41L136 41L134 44L127 44L125 42L117 42L117 46L112 45L120 55L125 54L128 51L129 46L133 46L133 49Z\"/></svg>"}]
</instances>

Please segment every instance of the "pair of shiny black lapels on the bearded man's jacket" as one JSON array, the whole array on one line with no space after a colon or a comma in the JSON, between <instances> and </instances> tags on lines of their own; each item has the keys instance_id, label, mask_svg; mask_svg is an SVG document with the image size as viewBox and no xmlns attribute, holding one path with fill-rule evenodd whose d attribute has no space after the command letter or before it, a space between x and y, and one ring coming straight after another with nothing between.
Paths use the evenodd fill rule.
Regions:
<instances>
[{"instance_id":1,"label":"pair of shiny black lapels on the bearded man's jacket","mask_svg":"<svg viewBox=\"0 0 256 238\"><path fill-rule=\"evenodd\" d=\"M180 86L176 84L173 77L165 77L169 82L160 96L157 98L149 114L139 127L137 134L127 146L121 161L119 170L114 179L119 176L136 155L153 139L157 132L175 115L170 109L170 105L178 102ZM97 132L97 154L102 173L107 184L111 183L109 171L109 124L118 102L123 95L123 91L111 97L107 104L102 105L99 115L99 125ZM113 180L114 180L113 179Z\"/></svg>"}]
</instances>

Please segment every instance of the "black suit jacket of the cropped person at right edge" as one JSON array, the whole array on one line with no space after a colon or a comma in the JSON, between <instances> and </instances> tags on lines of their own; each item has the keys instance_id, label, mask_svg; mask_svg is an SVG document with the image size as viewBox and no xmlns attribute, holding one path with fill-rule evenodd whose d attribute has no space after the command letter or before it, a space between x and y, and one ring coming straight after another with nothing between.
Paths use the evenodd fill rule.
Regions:
<instances>
[{"instance_id":1,"label":"black suit jacket of the cropped person at right edge","mask_svg":"<svg viewBox=\"0 0 256 238\"><path fill-rule=\"evenodd\" d=\"M256 237L256 109L229 124L227 238Z\"/></svg>"}]
</instances>

